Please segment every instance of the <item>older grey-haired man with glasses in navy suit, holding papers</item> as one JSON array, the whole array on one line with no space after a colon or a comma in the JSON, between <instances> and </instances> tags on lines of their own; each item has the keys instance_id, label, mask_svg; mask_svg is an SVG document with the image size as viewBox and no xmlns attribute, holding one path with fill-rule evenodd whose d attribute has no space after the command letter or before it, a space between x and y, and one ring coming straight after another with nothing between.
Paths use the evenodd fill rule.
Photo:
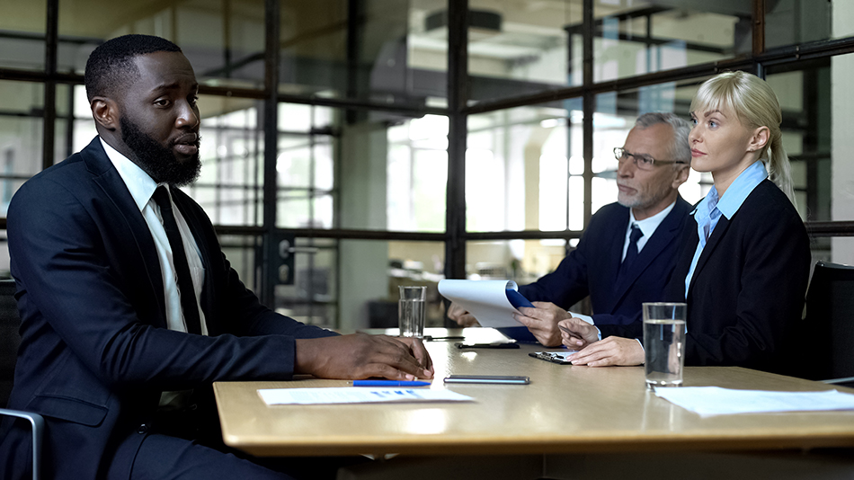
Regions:
<instances>
[{"instance_id":1,"label":"older grey-haired man with glasses in navy suit, holding papers","mask_svg":"<svg viewBox=\"0 0 854 480\"><path fill-rule=\"evenodd\" d=\"M678 239L689 203L679 195L688 179L689 123L672 113L646 113L628 132L618 160L617 202L599 209L578 246L557 270L520 293L534 308L516 316L545 346L561 344L557 323L571 316L593 324L633 318L641 304L661 298L673 271ZM590 296L592 317L567 309ZM463 326L477 323L457 304L449 318Z\"/></svg>"}]
</instances>

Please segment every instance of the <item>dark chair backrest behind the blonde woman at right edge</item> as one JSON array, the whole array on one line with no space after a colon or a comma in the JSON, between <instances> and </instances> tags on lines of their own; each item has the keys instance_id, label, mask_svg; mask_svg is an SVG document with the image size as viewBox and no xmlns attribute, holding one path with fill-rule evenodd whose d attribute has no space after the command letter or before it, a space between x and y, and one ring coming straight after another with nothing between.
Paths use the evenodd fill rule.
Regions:
<instances>
[{"instance_id":1,"label":"dark chair backrest behind the blonde woman at right edge","mask_svg":"<svg viewBox=\"0 0 854 480\"><path fill-rule=\"evenodd\" d=\"M817 262L806 294L809 330L818 365L808 366L817 380L854 377L854 267ZM813 339L809 332L817 333ZM812 362L810 362L812 363Z\"/></svg>"}]
</instances>

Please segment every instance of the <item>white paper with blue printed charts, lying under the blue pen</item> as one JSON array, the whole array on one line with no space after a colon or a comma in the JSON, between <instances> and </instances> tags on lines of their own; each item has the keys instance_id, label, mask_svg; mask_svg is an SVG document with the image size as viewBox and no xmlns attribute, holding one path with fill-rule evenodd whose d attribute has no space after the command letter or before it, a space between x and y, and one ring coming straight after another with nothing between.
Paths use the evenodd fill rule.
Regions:
<instances>
[{"instance_id":1,"label":"white paper with blue printed charts, lying under the blue pen","mask_svg":"<svg viewBox=\"0 0 854 480\"><path fill-rule=\"evenodd\" d=\"M278 404L374 404L401 402L469 402L470 396L444 389L431 388L262 388L264 403Z\"/></svg>"}]
</instances>

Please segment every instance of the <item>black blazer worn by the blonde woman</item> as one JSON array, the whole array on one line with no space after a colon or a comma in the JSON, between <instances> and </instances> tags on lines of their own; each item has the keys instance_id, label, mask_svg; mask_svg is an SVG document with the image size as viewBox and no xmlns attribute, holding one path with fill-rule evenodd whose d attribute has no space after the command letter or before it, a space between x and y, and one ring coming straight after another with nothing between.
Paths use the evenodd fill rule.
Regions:
<instances>
[{"instance_id":1,"label":"black blazer worn by the blonde woman","mask_svg":"<svg viewBox=\"0 0 854 480\"><path fill-rule=\"evenodd\" d=\"M761 182L732 219L721 217L700 255L689 222L666 298L688 303L686 365L735 365L785 372L784 339L800 320L810 269L809 238L795 207L773 182ZM602 337L643 337L643 324L602 325ZM789 352L791 353L791 352Z\"/></svg>"}]
</instances>

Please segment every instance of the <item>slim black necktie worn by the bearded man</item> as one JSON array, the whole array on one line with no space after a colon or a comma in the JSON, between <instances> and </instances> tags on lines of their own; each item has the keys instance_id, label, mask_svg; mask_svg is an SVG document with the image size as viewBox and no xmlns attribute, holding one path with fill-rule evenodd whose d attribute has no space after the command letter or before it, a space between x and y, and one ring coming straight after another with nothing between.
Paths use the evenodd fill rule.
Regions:
<instances>
[{"instance_id":1,"label":"slim black necktie worn by the bearded man","mask_svg":"<svg viewBox=\"0 0 854 480\"><path fill-rule=\"evenodd\" d=\"M172 202L169 200L166 187L162 185L157 187L153 198L157 206L160 207L163 228L169 238L169 246L172 248L172 260L175 264L175 273L178 276L178 297L181 298L181 310L184 314L184 322L187 324L187 332L201 334L199 306L196 304L196 292L192 288L190 265L187 263L181 232L178 230L178 223L175 221Z\"/></svg>"}]
</instances>

